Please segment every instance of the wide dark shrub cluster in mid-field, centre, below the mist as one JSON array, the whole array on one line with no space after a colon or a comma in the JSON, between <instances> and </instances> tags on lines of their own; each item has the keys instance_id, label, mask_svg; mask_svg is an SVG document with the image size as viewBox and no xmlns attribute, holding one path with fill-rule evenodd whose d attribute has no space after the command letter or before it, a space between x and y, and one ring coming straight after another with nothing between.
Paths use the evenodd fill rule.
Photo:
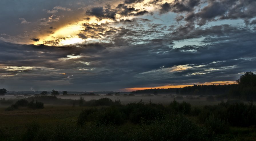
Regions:
<instances>
[{"instance_id":1,"label":"wide dark shrub cluster in mid-field, centre, below the mist","mask_svg":"<svg viewBox=\"0 0 256 141\"><path fill-rule=\"evenodd\" d=\"M101 99L100 101L103 100L104 99ZM184 101L178 103L176 100L174 100L168 107L152 102L144 103L142 100L139 103L128 103L126 105L109 104L112 104L112 106L103 107L101 109L84 110L78 117L78 125L83 125L86 121L92 120L97 120L104 124L117 125L123 124L125 121L130 121L135 124L148 124L155 120L164 119L168 114L188 114L191 110L189 103Z\"/></svg>"}]
</instances>

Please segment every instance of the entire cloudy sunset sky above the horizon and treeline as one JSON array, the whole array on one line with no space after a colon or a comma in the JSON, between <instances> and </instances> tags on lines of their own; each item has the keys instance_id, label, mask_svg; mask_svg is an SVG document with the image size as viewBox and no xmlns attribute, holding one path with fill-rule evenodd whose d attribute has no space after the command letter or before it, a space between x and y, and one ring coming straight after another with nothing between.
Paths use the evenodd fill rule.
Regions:
<instances>
[{"instance_id":1,"label":"entire cloudy sunset sky above the horizon and treeline","mask_svg":"<svg viewBox=\"0 0 256 141\"><path fill-rule=\"evenodd\" d=\"M256 71L255 0L1 0L0 88L133 91Z\"/></svg>"}]
</instances>

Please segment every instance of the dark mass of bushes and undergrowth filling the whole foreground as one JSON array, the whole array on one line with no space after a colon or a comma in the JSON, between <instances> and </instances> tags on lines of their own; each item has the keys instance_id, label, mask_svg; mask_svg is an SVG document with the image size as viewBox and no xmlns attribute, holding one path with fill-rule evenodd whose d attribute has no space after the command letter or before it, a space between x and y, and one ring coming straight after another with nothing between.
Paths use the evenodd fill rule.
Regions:
<instances>
[{"instance_id":1,"label":"dark mass of bushes and undergrowth filling the whole foreground","mask_svg":"<svg viewBox=\"0 0 256 141\"><path fill-rule=\"evenodd\" d=\"M256 105L221 102L193 107L176 100L168 105L140 100L122 105L102 98L83 101L84 107L73 124L56 123L50 127L31 123L23 132L0 128L0 140L170 140L219 141L256 139ZM27 102L19 101L19 105ZM93 107L87 107L93 106ZM75 108L75 107L74 107ZM237 129L246 128L245 134Z\"/></svg>"}]
</instances>

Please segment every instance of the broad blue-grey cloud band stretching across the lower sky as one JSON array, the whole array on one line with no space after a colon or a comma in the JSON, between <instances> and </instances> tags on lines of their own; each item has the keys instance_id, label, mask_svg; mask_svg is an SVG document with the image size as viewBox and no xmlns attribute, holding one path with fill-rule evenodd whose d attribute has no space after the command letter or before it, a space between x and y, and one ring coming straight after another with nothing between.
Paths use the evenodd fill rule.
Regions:
<instances>
[{"instance_id":1,"label":"broad blue-grey cloud band stretching across the lower sky","mask_svg":"<svg viewBox=\"0 0 256 141\"><path fill-rule=\"evenodd\" d=\"M193 28L191 32L183 32L187 35L174 32L175 37L154 38L143 40L143 44L127 45L134 37L141 38L140 34L149 34L150 30L157 30L159 26L162 25L150 24L150 29L145 31L117 28L109 32L113 43L86 43L78 47L1 42L0 63L4 66L33 66L22 73L15 70L17 75L8 76L8 82L17 79L31 82L41 80L42 83L50 81L55 88L70 86L77 90L233 81L237 79L238 73L255 71L256 33L248 28L238 29L230 25ZM127 38L129 36L132 38ZM169 44L170 40L202 36L205 37L205 45L174 48ZM170 68L177 65L192 68L172 72ZM11 74L11 70L1 69L0 73ZM63 85L57 86L58 81ZM99 85L101 88L97 88Z\"/></svg>"}]
</instances>

